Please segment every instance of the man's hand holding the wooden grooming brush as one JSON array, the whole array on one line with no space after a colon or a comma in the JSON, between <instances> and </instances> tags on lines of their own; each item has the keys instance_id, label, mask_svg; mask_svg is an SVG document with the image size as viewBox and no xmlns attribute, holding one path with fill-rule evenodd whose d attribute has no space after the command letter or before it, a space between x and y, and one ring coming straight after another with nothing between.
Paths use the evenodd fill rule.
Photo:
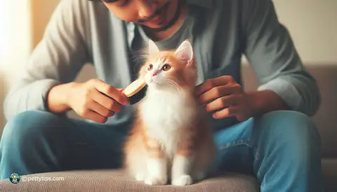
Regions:
<instances>
[{"instance_id":1,"label":"man's hand holding the wooden grooming brush","mask_svg":"<svg viewBox=\"0 0 337 192\"><path fill-rule=\"evenodd\" d=\"M112 85L91 79L85 83L73 83L67 103L79 116L105 123L108 117L121 111L122 105L128 104L128 99Z\"/></svg>"}]
</instances>

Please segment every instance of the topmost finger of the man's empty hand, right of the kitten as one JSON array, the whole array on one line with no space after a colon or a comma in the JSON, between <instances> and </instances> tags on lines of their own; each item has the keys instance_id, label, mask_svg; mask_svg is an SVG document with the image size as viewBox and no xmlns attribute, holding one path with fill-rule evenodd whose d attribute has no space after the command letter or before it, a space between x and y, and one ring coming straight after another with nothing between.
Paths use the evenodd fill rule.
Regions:
<instances>
[{"instance_id":1,"label":"topmost finger of the man's empty hand, right of the kitten","mask_svg":"<svg viewBox=\"0 0 337 192\"><path fill-rule=\"evenodd\" d=\"M227 83L234 82L232 76L219 76L217 78L207 79L204 83L197 85L195 88L195 94L201 95L201 93L211 90L214 87L226 85Z\"/></svg>"}]
</instances>

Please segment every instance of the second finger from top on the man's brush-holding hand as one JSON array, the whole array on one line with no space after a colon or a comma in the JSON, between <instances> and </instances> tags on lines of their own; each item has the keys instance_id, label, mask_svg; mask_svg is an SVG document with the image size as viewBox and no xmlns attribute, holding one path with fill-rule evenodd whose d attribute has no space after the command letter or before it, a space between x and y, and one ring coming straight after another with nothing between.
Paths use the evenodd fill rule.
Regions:
<instances>
[{"instance_id":1,"label":"second finger from top on the man's brush-holding hand","mask_svg":"<svg viewBox=\"0 0 337 192\"><path fill-rule=\"evenodd\" d=\"M123 109L123 106L115 101L114 99L107 97L102 92L95 91L93 92L93 100L95 102L98 102L98 104L102 105L109 111L115 111L117 113L121 112Z\"/></svg>"}]
</instances>

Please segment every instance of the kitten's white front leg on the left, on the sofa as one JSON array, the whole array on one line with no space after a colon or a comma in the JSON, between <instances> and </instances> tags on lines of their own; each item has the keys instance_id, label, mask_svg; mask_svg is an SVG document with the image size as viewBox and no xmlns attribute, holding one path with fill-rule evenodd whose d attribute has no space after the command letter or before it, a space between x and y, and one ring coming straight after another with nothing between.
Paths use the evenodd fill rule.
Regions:
<instances>
[{"instance_id":1,"label":"kitten's white front leg on the left, on the sofa","mask_svg":"<svg viewBox=\"0 0 337 192\"><path fill-rule=\"evenodd\" d=\"M153 139L147 141L147 179L145 184L165 185L167 184L167 160L160 144Z\"/></svg>"}]
</instances>

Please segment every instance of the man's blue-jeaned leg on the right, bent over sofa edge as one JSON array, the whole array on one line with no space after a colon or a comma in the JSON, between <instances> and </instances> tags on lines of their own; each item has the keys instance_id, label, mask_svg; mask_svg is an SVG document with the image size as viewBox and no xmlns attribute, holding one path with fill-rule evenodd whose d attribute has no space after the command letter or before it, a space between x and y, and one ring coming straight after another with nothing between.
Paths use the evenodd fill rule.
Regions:
<instances>
[{"instance_id":1,"label":"man's blue-jeaned leg on the right, bent over sofa edge","mask_svg":"<svg viewBox=\"0 0 337 192\"><path fill-rule=\"evenodd\" d=\"M273 111L214 138L217 169L253 174L261 191L323 191L319 133L304 114Z\"/></svg>"}]
</instances>

